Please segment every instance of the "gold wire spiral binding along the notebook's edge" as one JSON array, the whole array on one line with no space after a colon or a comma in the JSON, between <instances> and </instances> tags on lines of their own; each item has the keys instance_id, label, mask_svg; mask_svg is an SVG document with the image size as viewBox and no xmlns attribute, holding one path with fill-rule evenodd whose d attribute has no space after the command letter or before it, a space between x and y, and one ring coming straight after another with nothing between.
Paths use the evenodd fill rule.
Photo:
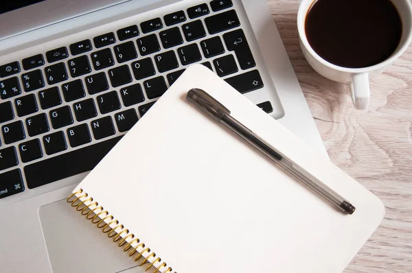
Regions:
<instances>
[{"instance_id":1,"label":"gold wire spiral binding along the notebook's edge","mask_svg":"<svg viewBox=\"0 0 412 273\"><path fill-rule=\"evenodd\" d=\"M86 219L100 228L102 233L107 233L107 237L113 238L113 242L116 243L119 248L123 248L124 252L128 252L131 249L128 253L129 257L133 257L137 254L135 262L144 258L143 261L139 263L139 266L149 263L145 272L152 267L156 268L153 273L160 273L162 272L161 270L165 270L163 273L171 273L173 271L172 268L168 267L167 263L161 263L159 257L156 259L155 252L151 252L150 248L146 248L145 244L142 243L139 238L135 237L133 233L130 233L127 228L124 228L124 225L120 224L119 221L117 221L113 215L108 213L108 211L104 210L102 206L99 206L98 202L93 202L93 198L89 197L89 194L85 193L83 189L72 193L67 198L67 202L71 204L73 208L76 208L76 211L80 211L81 215L86 217ZM115 226L114 228L112 228L113 224ZM124 237L122 237L122 235ZM130 239L130 242L127 242L128 239ZM136 244L137 246L133 247L133 244ZM147 257L144 257L145 253L148 254ZM150 261L150 259L153 259L153 261Z\"/></svg>"}]
</instances>

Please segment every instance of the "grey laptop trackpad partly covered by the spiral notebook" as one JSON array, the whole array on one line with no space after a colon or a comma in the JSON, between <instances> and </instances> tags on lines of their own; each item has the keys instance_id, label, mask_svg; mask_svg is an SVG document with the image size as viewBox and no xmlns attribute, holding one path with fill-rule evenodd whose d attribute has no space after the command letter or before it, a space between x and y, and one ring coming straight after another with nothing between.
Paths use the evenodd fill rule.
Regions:
<instances>
[{"instance_id":1,"label":"grey laptop trackpad partly covered by the spiral notebook","mask_svg":"<svg viewBox=\"0 0 412 273\"><path fill-rule=\"evenodd\" d=\"M66 200L42 206L39 215L54 273L143 273L146 269Z\"/></svg>"}]
</instances>

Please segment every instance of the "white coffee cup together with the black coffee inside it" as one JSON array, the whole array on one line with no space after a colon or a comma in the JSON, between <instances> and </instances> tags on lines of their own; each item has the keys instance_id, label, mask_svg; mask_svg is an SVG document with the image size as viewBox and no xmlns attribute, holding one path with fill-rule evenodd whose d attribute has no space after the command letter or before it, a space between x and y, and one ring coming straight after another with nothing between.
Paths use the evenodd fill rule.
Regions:
<instances>
[{"instance_id":1,"label":"white coffee cup together with the black coffee inside it","mask_svg":"<svg viewBox=\"0 0 412 273\"><path fill-rule=\"evenodd\" d=\"M368 8L369 13L365 12L365 20L363 20L361 18L356 19L356 16L362 16L362 14L356 13L356 8L361 3L366 4L367 1L356 1L302 0L297 14L297 28L301 50L310 66L325 78L348 84L354 107L358 110L364 110L369 105L370 100L369 78L373 78L387 69L411 43L412 5L409 0L386 0L388 3L383 3L385 0L382 0L381 10ZM336 6L339 3L341 6ZM352 6L350 6L351 3ZM389 14L391 9L383 4L392 5L396 9L401 24L400 28L396 27L396 15L393 12ZM362 8L367 7L358 6L358 8L361 10L360 12L363 12ZM345 12L345 9L348 12ZM311 14L311 12L314 13ZM322 12L325 14L322 14ZM330 14L326 14L327 12L330 12ZM333 12L336 12L336 14L332 14ZM374 12L376 12L376 16L374 16ZM323 15L325 16L322 17ZM382 22L379 20L376 22L379 16L383 16ZM386 19L391 21L385 23ZM352 27L353 36L349 31L350 27L340 25L345 22ZM369 26L365 26L365 22L369 22ZM379 29L373 29L379 23L382 23L382 31L380 32ZM396 27L396 29L388 29L388 26ZM371 27L370 34L365 32L365 29L368 29L367 27ZM356 36L356 32L363 36ZM374 33L376 33L376 37L373 35ZM341 38L342 40L339 40ZM322 39L325 43L322 43ZM336 39L339 41L336 41ZM372 43L373 39L376 39L376 43ZM393 45L389 43L391 39ZM381 51L379 51L380 47L382 47ZM388 52L385 53L385 50ZM373 55L371 52L375 51L376 56L369 58ZM378 51L381 55L387 54L387 56L378 56ZM364 58L365 56L370 60Z\"/></svg>"}]
</instances>

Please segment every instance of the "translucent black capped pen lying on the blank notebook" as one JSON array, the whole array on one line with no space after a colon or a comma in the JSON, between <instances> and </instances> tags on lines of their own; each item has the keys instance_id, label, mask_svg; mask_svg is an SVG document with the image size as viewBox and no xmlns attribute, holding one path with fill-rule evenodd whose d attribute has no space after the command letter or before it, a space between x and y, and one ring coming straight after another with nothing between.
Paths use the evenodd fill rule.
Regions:
<instances>
[{"instance_id":1,"label":"translucent black capped pen lying on the blank notebook","mask_svg":"<svg viewBox=\"0 0 412 273\"><path fill-rule=\"evenodd\" d=\"M308 187L343 211L343 213L354 213L355 207L349 201L345 200L339 193L330 189L330 187L312 176L308 171L291 161L281 152L277 151L275 147L254 134L249 128L231 117L230 110L220 104L214 97L211 97L211 95L202 89L193 88L187 93L186 98L213 119L219 123L225 124L225 126L229 127L233 132L236 132L240 137L258 148L258 150L266 154L266 156L269 156L280 167L295 176L295 178L301 180L301 182L304 182Z\"/></svg>"}]
</instances>

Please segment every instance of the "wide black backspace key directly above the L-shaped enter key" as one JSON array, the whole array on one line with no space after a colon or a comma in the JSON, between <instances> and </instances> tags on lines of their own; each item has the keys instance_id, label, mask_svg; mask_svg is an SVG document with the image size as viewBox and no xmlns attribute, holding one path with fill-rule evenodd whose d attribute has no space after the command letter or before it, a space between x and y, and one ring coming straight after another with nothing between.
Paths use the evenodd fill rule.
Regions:
<instances>
[{"instance_id":1,"label":"wide black backspace key directly above the L-shaped enter key","mask_svg":"<svg viewBox=\"0 0 412 273\"><path fill-rule=\"evenodd\" d=\"M205 23L209 34L216 34L240 26L238 14L235 10L209 16L205 19Z\"/></svg>"}]
</instances>

